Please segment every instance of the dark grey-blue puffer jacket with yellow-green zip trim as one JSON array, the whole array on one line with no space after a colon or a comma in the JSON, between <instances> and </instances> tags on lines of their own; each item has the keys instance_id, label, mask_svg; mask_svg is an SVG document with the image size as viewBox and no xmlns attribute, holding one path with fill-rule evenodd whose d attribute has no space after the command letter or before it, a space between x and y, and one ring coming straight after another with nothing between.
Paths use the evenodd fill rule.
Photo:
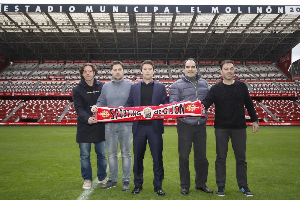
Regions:
<instances>
[{"instance_id":1,"label":"dark grey-blue puffer jacket with yellow-green zip trim","mask_svg":"<svg viewBox=\"0 0 300 200\"><path fill-rule=\"evenodd\" d=\"M188 101L191 102L195 100L203 100L205 99L210 87L206 80L201 79L199 74L196 74L196 87L194 87L193 83L185 79L185 74L181 75L181 79L177 80L171 85L170 88L170 103L176 103L180 101ZM206 111L206 117L208 117L208 113ZM206 123L206 118L202 117L180 117L177 118L179 121L190 124L190 125L202 125Z\"/></svg>"}]
</instances>

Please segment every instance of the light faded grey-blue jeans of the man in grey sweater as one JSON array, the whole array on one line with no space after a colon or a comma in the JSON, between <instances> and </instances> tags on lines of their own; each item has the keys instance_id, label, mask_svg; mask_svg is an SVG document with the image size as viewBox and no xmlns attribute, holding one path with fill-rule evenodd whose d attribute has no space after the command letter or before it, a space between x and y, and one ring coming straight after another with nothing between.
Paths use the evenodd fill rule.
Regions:
<instances>
[{"instance_id":1,"label":"light faded grey-blue jeans of the man in grey sweater","mask_svg":"<svg viewBox=\"0 0 300 200\"><path fill-rule=\"evenodd\" d=\"M119 164L118 164L118 141L120 142L122 154L123 177L130 181L131 174L131 134L132 123L107 123L105 124L105 139L108 153L108 163L110 166L110 179L113 182L118 181Z\"/></svg>"}]
</instances>

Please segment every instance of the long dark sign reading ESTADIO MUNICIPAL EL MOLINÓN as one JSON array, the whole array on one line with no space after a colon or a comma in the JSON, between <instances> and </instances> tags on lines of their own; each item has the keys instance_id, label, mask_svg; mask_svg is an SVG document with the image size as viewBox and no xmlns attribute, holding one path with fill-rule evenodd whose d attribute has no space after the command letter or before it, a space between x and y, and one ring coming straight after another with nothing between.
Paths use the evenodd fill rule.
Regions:
<instances>
[{"instance_id":1,"label":"long dark sign reading ESTADIO MUNICIPAL EL MOLIN\u00d3N","mask_svg":"<svg viewBox=\"0 0 300 200\"><path fill-rule=\"evenodd\" d=\"M0 12L300 14L300 6L284 6L284 5L274 6L274 5L0 4Z\"/></svg>"}]
</instances>

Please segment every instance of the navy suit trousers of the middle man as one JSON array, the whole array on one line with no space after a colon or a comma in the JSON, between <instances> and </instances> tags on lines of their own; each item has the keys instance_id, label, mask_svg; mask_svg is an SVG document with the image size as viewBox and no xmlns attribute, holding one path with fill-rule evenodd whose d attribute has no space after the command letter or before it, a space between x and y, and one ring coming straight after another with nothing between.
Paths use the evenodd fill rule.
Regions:
<instances>
[{"instance_id":1,"label":"navy suit trousers of the middle man","mask_svg":"<svg viewBox=\"0 0 300 200\"><path fill-rule=\"evenodd\" d=\"M144 164L145 151L147 147L147 140L153 160L153 185L154 187L161 187L161 182L164 179L164 165L163 165L163 136L156 135L153 126L137 126L137 132L133 135L133 152L134 152L134 185L143 185L144 178Z\"/></svg>"}]
</instances>

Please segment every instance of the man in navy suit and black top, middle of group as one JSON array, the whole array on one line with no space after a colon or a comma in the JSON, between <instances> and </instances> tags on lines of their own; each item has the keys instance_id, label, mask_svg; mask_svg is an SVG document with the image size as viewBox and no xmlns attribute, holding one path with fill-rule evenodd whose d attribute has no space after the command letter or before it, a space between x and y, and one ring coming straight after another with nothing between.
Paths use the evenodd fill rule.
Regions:
<instances>
[{"instance_id":1,"label":"man in navy suit and black top, middle of group","mask_svg":"<svg viewBox=\"0 0 300 200\"><path fill-rule=\"evenodd\" d=\"M153 81L154 64L151 60L146 60L141 64L141 73L143 80L131 85L130 93L124 107L132 106L159 106L169 103L164 84ZM120 108L124 108L120 106ZM134 151L134 190L131 194L138 194L143 190L143 159L147 147L147 141L153 159L153 185L154 191L159 196L165 193L161 188L161 182L164 179L163 166L163 120L144 120L133 121L133 151Z\"/></svg>"}]
</instances>

